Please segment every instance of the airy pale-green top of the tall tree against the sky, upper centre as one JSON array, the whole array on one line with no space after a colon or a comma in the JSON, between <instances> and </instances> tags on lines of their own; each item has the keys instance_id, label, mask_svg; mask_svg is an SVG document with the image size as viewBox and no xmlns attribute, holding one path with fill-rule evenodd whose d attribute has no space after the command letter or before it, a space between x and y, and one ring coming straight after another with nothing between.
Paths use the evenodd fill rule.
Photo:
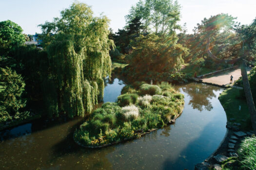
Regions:
<instances>
[{"instance_id":1,"label":"airy pale-green top of the tall tree against the sky, upper centre","mask_svg":"<svg viewBox=\"0 0 256 170\"><path fill-rule=\"evenodd\" d=\"M152 29L155 34L174 34L180 29L177 24L180 20L177 0L139 0L125 17L127 23L136 17L141 18L146 30Z\"/></svg>"}]
</instances>

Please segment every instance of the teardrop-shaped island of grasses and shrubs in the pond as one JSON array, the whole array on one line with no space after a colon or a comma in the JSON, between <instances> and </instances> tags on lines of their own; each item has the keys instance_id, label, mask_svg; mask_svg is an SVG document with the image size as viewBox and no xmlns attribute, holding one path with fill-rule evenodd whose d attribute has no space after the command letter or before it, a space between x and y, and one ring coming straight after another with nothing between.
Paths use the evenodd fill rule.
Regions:
<instances>
[{"instance_id":1,"label":"teardrop-shaped island of grasses and shrubs in the pond","mask_svg":"<svg viewBox=\"0 0 256 170\"><path fill-rule=\"evenodd\" d=\"M87 147L107 146L162 128L181 113L184 97L172 85L138 85L130 85L117 102L106 102L94 111L75 131L75 141Z\"/></svg>"}]
</instances>

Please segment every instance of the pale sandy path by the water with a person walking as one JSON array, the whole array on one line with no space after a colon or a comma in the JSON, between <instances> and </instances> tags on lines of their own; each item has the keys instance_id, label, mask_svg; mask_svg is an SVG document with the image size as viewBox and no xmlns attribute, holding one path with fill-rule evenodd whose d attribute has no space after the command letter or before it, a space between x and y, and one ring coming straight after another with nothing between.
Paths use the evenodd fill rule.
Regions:
<instances>
[{"instance_id":1,"label":"pale sandy path by the water with a person walking","mask_svg":"<svg viewBox=\"0 0 256 170\"><path fill-rule=\"evenodd\" d=\"M247 74L250 72L252 68L246 68ZM240 68L237 68L235 70L230 70L226 71L223 73L220 73L218 75L209 77L209 78L204 78L202 79L203 82L206 83L213 83L217 85L227 85L230 84L230 76L233 76L233 83L235 80L237 80L239 77L241 77L241 70Z\"/></svg>"}]
</instances>

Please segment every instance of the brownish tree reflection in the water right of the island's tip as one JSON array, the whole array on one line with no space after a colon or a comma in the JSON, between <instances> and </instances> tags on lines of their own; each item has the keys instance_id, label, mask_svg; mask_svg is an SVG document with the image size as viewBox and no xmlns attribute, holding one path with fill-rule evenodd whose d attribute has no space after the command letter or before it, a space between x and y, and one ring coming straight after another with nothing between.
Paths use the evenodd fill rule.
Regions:
<instances>
[{"instance_id":1,"label":"brownish tree reflection in the water right of the island's tip","mask_svg":"<svg viewBox=\"0 0 256 170\"><path fill-rule=\"evenodd\" d=\"M218 91L219 87L201 83L190 83L182 85L181 89L189 95L189 104L192 105L193 109L201 112L203 109L208 111L213 109L210 99L216 97L215 91Z\"/></svg>"}]
</instances>

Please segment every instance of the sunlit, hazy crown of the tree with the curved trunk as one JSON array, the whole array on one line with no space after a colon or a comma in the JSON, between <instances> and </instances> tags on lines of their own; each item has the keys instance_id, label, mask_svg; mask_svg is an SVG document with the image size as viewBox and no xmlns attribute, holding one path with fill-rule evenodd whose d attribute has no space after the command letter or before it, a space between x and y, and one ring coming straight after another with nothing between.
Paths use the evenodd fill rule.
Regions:
<instances>
[{"instance_id":1,"label":"sunlit, hazy crown of the tree with the curved trunk","mask_svg":"<svg viewBox=\"0 0 256 170\"><path fill-rule=\"evenodd\" d=\"M225 63L222 63L221 67L215 66L216 64L212 62L212 59L206 59L209 57L205 51L208 38L214 41L210 45L210 50L218 58L234 59L241 56L242 40L239 34L234 32L237 27L235 19L236 17L228 14L218 14L204 18L193 30L194 34L181 33L178 35L178 43L190 49L190 54L184 60L197 66L198 75L200 74L198 68L206 67L218 70L223 68L223 65L225 66ZM204 65L198 67L198 62L205 59Z\"/></svg>"}]
</instances>

